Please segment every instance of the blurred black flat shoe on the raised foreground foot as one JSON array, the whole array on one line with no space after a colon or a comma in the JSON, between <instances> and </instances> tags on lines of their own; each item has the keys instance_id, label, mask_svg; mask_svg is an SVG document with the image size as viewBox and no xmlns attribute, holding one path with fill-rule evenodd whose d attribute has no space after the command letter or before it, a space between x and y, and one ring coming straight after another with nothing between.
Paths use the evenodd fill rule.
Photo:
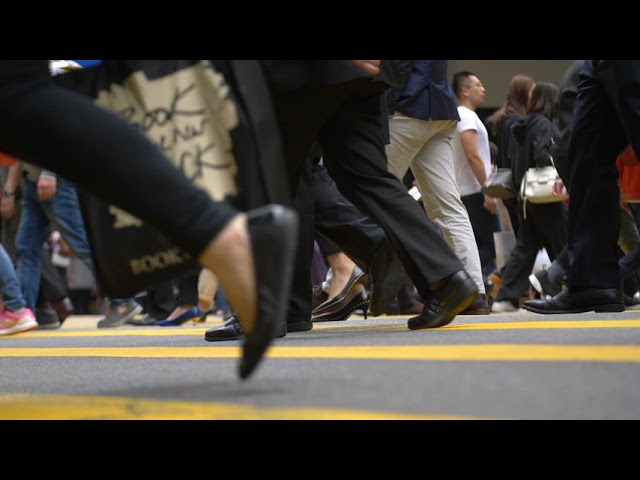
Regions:
<instances>
[{"instance_id":1,"label":"blurred black flat shoe on the raised foreground foot","mask_svg":"<svg viewBox=\"0 0 640 480\"><path fill-rule=\"evenodd\" d=\"M298 215L282 205L247 212L257 290L256 320L245 332L238 372L246 379L255 370L278 326L285 321L298 238Z\"/></svg>"}]
</instances>

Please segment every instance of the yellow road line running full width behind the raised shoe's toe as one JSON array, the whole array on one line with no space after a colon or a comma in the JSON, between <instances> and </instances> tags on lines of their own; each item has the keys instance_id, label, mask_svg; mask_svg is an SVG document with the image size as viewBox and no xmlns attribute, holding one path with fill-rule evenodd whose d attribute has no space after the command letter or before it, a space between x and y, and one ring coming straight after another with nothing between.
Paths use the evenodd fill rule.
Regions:
<instances>
[{"instance_id":1,"label":"yellow road line running full width behind the raised shoe's toe","mask_svg":"<svg viewBox=\"0 0 640 480\"><path fill-rule=\"evenodd\" d=\"M0 348L0 357L238 358L240 347ZM271 346L270 358L640 363L630 345Z\"/></svg>"}]
</instances>

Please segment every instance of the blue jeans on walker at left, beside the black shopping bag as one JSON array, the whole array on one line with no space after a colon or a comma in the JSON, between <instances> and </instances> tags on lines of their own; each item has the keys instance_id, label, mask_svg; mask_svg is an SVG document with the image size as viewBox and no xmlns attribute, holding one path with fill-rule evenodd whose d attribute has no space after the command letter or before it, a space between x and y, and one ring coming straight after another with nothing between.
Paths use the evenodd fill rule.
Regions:
<instances>
[{"instance_id":1,"label":"blue jeans on walker at left, beside the black shopping bag","mask_svg":"<svg viewBox=\"0 0 640 480\"><path fill-rule=\"evenodd\" d=\"M16 236L18 279L27 307L35 311L42 262L42 246L54 225L71 251L93 270L91 249L82 221L75 186L58 177L56 194L40 201L37 184L27 180L22 198L22 215Z\"/></svg>"}]
</instances>

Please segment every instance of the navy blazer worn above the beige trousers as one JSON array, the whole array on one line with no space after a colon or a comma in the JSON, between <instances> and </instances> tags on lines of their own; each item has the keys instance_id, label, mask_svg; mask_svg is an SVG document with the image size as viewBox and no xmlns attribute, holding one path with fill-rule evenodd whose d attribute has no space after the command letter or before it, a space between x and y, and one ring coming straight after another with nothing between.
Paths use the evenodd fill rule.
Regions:
<instances>
[{"instance_id":1,"label":"navy blazer worn above the beige trousers","mask_svg":"<svg viewBox=\"0 0 640 480\"><path fill-rule=\"evenodd\" d=\"M397 60L404 87L387 90L390 112L420 120L458 120L448 60Z\"/></svg>"}]
</instances>

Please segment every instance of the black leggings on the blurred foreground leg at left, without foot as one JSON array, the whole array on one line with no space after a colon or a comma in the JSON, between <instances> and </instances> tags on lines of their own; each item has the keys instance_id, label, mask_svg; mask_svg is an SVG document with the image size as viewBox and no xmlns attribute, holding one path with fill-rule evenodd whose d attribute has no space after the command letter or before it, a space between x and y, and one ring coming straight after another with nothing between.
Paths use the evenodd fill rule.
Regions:
<instances>
[{"instance_id":1,"label":"black leggings on the blurred foreground leg at left, without foot","mask_svg":"<svg viewBox=\"0 0 640 480\"><path fill-rule=\"evenodd\" d=\"M194 258L237 214L195 187L134 126L56 86L47 60L0 61L0 152L131 212Z\"/></svg>"}]
</instances>

